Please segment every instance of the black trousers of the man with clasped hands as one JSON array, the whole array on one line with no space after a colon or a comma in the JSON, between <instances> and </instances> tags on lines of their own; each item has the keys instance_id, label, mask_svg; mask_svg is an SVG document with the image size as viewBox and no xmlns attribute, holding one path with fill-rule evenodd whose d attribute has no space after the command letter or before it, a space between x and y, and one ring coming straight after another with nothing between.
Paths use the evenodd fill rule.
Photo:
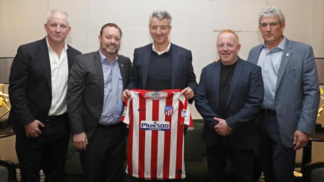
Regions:
<instances>
[{"instance_id":1,"label":"black trousers of the man with clasped hands","mask_svg":"<svg viewBox=\"0 0 324 182\"><path fill-rule=\"evenodd\" d=\"M226 161L234 164L236 181L253 181L254 153L251 150L233 149L227 136L220 136L214 146L207 146L207 164L210 182L222 182L225 177Z\"/></svg>"}]
</instances>

